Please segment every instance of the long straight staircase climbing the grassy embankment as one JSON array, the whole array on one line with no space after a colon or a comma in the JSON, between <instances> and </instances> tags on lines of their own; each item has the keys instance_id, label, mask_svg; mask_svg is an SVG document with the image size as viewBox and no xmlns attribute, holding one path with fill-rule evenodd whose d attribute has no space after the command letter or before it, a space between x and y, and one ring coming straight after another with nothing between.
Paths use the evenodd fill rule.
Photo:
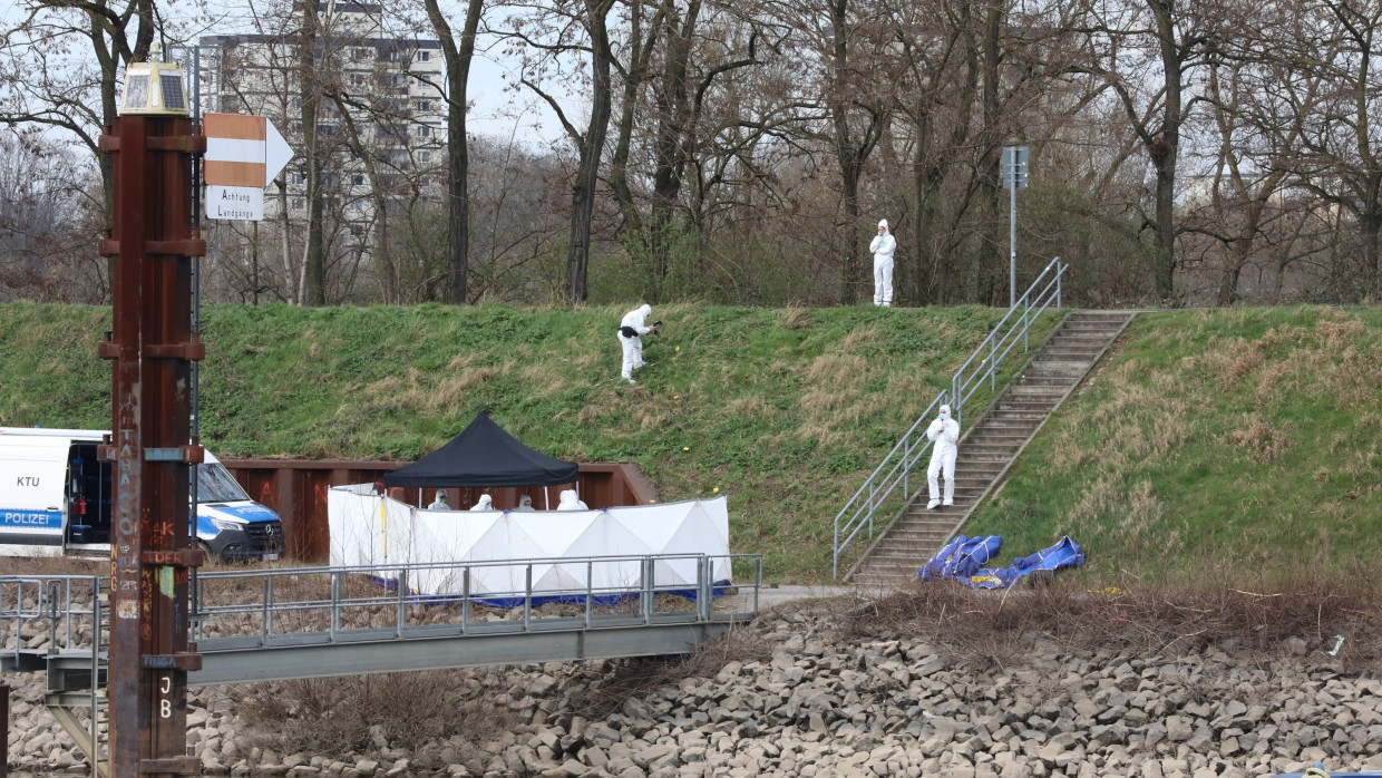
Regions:
<instances>
[{"instance_id":1,"label":"long straight staircase climbing the grassy embankment","mask_svg":"<svg viewBox=\"0 0 1382 778\"><path fill-rule=\"evenodd\" d=\"M1046 417L1089 373L1132 321L1135 312L1077 311L1066 316L1032 357L1019 380L1005 388L959 441L955 504L926 510L926 468L914 471L920 488L847 576L854 585L894 587L916 580L969 514L1007 474ZM944 489L945 484L941 482Z\"/></svg>"}]
</instances>

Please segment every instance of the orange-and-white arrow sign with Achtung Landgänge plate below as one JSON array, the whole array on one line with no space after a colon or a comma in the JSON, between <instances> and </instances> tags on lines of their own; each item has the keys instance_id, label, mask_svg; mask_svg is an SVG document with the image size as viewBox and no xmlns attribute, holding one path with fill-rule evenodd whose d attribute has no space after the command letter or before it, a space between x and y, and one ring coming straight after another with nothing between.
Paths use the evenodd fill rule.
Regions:
<instances>
[{"instance_id":1,"label":"orange-and-white arrow sign with Achtung Landg\u00e4nge plate below","mask_svg":"<svg viewBox=\"0 0 1382 778\"><path fill-rule=\"evenodd\" d=\"M293 159L292 146L265 116L207 113L202 134L207 218L264 218L264 187Z\"/></svg>"}]
</instances>

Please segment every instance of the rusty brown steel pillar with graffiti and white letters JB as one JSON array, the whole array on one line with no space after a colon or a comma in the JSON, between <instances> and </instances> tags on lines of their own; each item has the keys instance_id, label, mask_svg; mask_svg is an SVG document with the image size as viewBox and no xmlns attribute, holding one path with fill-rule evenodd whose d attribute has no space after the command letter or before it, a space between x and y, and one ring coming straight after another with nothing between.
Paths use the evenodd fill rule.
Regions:
<instances>
[{"instance_id":1,"label":"rusty brown steel pillar with graffiti and white letters JB","mask_svg":"<svg viewBox=\"0 0 1382 778\"><path fill-rule=\"evenodd\" d=\"M189 531L192 155L206 140L173 116L120 116L101 135L112 156L115 213L101 254L113 256L113 329L98 354L113 361L111 439L116 507L111 540L108 706L111 775L189 775L188 579L202 564Z\"/></svg>"}]
</instances>

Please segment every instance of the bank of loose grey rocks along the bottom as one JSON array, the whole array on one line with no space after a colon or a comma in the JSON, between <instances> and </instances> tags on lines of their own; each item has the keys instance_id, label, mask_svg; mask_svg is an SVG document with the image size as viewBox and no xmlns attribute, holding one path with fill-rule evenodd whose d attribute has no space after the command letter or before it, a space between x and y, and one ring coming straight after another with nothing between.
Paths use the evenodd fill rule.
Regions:
<instances>
[{"instance_id":1,"label":"bank of loose grey rocks along the bottom","mask_svg":"<svg viewBox=\"0 0 1382 778\"><path fill-rule=\"evenodd\" d=\"M1046 775L1259 777L1323 761L1382 770L1382 681L1323 652L1240 661L1209 648L1144 656L955 656L920 638L839 637L828 604L770 612L764 661L630 696L604 720L571 708L608 662L456 670L514 724L402 749L375 732L351 753L282 753L227 690L195 690L188 743L229 775ZM32 636L22 636L32 640ZM41 677L8 676L10 768L86 774L43 708ZM303 720L303 727L314 721Z\"/></svg>"}]
</instances>

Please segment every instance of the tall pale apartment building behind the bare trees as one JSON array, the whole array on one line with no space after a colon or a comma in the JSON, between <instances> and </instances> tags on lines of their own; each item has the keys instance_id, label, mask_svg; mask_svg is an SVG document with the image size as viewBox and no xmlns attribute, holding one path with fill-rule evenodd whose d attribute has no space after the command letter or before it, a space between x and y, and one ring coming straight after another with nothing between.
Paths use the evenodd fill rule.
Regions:
<instances>
[{"instance_id":1,"label":"tall pale apartment building behind the bare trees","mask_svg":"<svg viewBox=\"0 0 1382 778\"><path fill-rule=\"evenodd\" d=\"M370 240L377 206L439 191L446 106L441 44L386 29L383 6L319 3L312 66L303 65L301 6L281 32L200 39L203 112L268 116L294 149L283 171L289 218L307 216L304 95L318 98L316 164L328 220ZM269 26L261 23L261 28ZM281 217L274 187L265 220Z\"/></svg>"}]
</instances>

